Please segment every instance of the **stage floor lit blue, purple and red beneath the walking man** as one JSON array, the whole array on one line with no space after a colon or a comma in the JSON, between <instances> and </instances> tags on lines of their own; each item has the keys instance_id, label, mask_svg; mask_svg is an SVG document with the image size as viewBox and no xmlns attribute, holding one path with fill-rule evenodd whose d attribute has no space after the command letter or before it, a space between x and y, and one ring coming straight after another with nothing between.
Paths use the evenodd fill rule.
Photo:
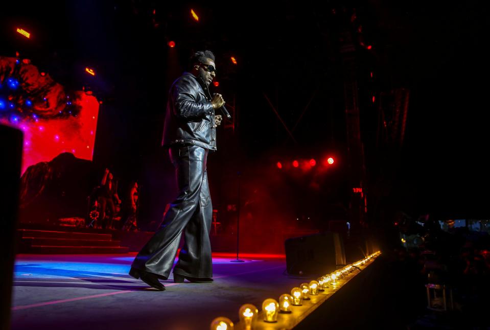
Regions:
<instances>
[{"instance_id":1,"label":"stage floor lit blue, purple and red beneath the walking man","mask_svg":"<svg viewBox=\"0 0 490 330\"><path fill-rule=\"evenodd\" d=\"M213 283L162 281L160 292L128 275L135 253L16 257L12 329L207 329L218 316L238 320L244 303L261 309L302 278L284 255L213 254ZM171 275L172 276L172 275Z\"/></svg>"}]
</instances>

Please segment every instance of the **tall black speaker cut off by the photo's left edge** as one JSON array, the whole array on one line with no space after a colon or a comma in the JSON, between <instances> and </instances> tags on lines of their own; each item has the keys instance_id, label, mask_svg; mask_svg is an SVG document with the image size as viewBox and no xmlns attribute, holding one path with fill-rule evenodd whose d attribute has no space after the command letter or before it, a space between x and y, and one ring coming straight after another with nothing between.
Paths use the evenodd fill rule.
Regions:
<instances>
[{"instance_id":1,"label":"tall black speaker cut off by the photo's left edge","mask_svg":"<svg viewBox=\"0 0 490 330\"><path fill-rule=\"evenodd\" d=\"M0 125L0 212L4 237L0 240L0 329L10 328L10 302L19 206L22 132Z\"/></svg>"}]
</instances>

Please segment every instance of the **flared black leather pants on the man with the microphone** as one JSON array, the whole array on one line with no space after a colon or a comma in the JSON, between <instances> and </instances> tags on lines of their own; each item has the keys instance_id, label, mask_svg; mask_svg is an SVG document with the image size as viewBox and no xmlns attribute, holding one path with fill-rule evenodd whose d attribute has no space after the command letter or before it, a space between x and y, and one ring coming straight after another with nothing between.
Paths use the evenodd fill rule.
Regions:
<instances>
[{"instance_id":1,"label":"flared black leather pants on the man with the microphone","mask_svg":"<svg viewBox=\"0 0 490 330\"><path fill-rule=\"evenodd\" d=\"M160 229L139 251L131 267L167 279L183 231L185 242L180 249L174 273L191 277L212 277L209 230L213 206L206 172L208 150L191 145L172 147L169 152L175 167L179 193L167 211Z\"/></svg>"}]
</instances>

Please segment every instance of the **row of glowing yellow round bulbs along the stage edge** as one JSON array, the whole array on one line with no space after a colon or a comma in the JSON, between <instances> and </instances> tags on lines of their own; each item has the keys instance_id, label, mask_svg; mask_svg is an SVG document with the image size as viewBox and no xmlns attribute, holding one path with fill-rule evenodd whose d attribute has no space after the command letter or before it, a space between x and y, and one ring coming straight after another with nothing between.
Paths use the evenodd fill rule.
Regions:
<instances>
[{"instance_id":1,"label":"row of glowing yellow round bulbs along the stage edge","mask_svg":"<svg viewBox=\"0 0 490 330\"><path fill-rule=\"evenodd\" d=\"M347 265L330 275L324 275L317 280L312 280L310 283L301 283L299 287L295 287L291 290L291 294L283 294L279 297L279 302L273 298L265 299L262 303L262 311L264 312L265 322L277 322L277 316L279 313L290 314L292 313L292 306L301 306L303 300L310 300L310 296L318 295L319 291L325 291L329 286L336 285L337 281L347 274L350 274L355 269L359 269L359 266L366 264L371 258L377 257L381 254L380 251L368 255L363 260L357 263ZM246 303L240 307L238 312L240 317L241 329L253 330L259 310L251 303ZM217 317L211 322L211 330L233 330L234 324L227 317Z\"/></svg>"}]
</instances>

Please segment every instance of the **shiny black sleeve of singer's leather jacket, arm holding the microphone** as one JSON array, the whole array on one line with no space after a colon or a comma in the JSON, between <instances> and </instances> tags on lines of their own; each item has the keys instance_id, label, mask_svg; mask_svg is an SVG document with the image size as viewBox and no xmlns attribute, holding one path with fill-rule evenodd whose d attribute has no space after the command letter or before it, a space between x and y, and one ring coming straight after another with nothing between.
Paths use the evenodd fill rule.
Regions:
<instances>
[{"instance_id":1,"label":"shiny black sleeve of singer's leather jacket, arm holding the microphone","mask_svg":"<svg viewBox=\"0 0 490 330\"><path fill-rule=\"evenodd\" d=\"M197 103L196 88L189 83L175 84L172 90L174 114L183 120L192 120L205 117L213 113L211 102Z\"/></svg>"}]
</instances>

